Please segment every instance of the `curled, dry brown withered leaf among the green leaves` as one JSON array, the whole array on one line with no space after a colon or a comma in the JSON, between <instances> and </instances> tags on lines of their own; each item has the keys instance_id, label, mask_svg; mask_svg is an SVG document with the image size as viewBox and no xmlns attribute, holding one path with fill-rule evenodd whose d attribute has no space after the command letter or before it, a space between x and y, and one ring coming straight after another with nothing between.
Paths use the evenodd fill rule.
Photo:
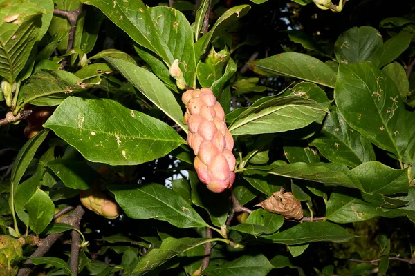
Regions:
<instances>
[{"instance_id":1,"label":"curled, dry brown withered leaf among the green leaves","mask_svg":"<svg viewBox=\"0 0 415 276\"><path fill-rule=\"evenodd\" d=\"M275 192L271 197L255 206L260 206L271 213L283 215L286 219L301 219L303 217L301 202L297 201L291 192Z\"/></svg>"}]
</instances>

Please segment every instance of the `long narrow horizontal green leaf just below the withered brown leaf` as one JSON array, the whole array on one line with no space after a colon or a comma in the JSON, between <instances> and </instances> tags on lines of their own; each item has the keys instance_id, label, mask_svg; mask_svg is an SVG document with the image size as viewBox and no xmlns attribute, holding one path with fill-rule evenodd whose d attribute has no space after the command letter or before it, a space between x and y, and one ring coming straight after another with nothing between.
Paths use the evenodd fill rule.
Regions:
<instances>
[{"instance_id":1,"label":"long narrow horizontal green leaf just below the withered brown leaf","mask_svg":"<svg viewBox=\"0 0 415 276\"><path fill-rule=\"evenodd\" d=\"M346 242L356 237L342 226L327 221L303 222L282 232L263 236L278 244L305 244L308 242Z\"/></svg>"}]
</instances>

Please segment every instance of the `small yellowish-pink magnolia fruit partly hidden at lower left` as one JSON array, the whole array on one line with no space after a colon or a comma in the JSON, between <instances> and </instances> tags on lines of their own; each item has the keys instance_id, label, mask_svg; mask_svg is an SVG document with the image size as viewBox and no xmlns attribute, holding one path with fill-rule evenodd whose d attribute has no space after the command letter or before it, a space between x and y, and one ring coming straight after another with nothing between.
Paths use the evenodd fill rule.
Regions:
<instances>
[{"instance_id":1,"label":"small yellowish-pink magnolia fruit partly hidden at lower left","mask_svg":"<svg viewBox=\"0 0 415 276\"><path fill-rule=\"evenodd\" d=\"M97 215L107 219L116 219L120 215L118 205L107 199L104 193L98 190L80 190L81 203Z\"/></svg>"}]
</instances>

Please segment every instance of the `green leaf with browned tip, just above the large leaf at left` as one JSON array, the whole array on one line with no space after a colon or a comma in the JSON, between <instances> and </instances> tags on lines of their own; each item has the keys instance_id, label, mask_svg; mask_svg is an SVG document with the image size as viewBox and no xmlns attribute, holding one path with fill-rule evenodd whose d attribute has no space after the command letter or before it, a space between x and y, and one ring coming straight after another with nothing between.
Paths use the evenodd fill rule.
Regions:
<instances>
[{"instance_id":1,"label":"green leaf with browned tip, just above the large leaf at left","mask_svg":"<svg viewBox=\"0 0 415 276\"><path fill-rule=\"evenodd\" d=\"M82 79L70 72L39 70L21 87L18 101L35 106L57 106L72 93L82 90Z\"/></svg>"}]
</instances>

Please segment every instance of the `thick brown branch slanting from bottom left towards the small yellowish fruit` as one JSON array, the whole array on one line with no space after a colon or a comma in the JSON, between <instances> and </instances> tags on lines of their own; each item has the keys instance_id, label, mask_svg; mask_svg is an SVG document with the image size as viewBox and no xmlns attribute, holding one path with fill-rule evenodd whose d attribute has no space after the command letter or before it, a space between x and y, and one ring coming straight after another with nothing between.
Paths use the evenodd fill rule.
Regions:
<instances>
[{"instance_id":1,"label":"thick brown branch slanting from bottom left towards the small yellowish fruit","mask_svg":"<svg viewBox=\"0 0 415 276\"><path fill-rule=\"evenodd\" d=\"M84 208L82 208L81 205L78 205L77 208L75 208L75 210L73 211L73 213L71 213L71 215L68 215L67 217L63 217L61 222L64 224L69 224L71 226L75 226L75 225L79 226L84 213L85 213ZM41 239L38 243L37 249L32 255L30 255L30 257L44 256L50 250L53 244L55 244L55 242L59 239L59 237L62 237L62 235L64 234L53 233L53 234L48 235L48 237ZM30 259L26 260L26 262L24 262L23 268L19 269L17 276L24 276L30 273L30 271L32 271L32 264L33 262Z\"/></svg>"}]
</instances>

